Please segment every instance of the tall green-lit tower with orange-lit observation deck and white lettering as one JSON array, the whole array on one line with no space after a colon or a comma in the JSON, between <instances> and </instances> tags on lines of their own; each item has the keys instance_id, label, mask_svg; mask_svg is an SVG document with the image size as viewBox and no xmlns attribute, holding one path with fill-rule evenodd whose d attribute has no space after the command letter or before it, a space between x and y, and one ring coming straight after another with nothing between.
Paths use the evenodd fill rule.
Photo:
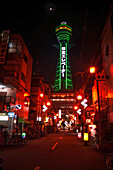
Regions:
<instances>
[{"instance_id":1,"label":"tall green-lit tower with orange-lit observation deck and white lettering","mask_svg":"<svg viewBox=\"0 0 113 170\"><path fill-rule=\"evenodd\" d=\"M73 83L68 56L69 40L72 34L72 28L69 27L66 22L62 22L61 25L56 28L55 32L59 42L59 58L57 61L54 89L55 91L72 90Z\"/></svg>"}]
</instances>

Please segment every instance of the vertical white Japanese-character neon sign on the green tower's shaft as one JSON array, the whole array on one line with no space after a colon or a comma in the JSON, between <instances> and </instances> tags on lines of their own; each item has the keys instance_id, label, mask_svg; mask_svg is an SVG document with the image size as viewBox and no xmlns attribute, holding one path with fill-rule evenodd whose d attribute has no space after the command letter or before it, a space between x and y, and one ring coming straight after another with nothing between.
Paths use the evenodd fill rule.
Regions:
<instances>
[{"instance_id":1,"label":"vertical white Japanese-character neon sign on the green tower's shaft","mask_svg":"<svg viewBox=\"0 0 113 170\"><path fill-rule=\"evenodd\" d=\"M66 72L65 65L66 65L66 47L62 47L62 49L61 49L61 74L62 74L62 77L65 76L65 72Z\"/></svg>"}]
</instances>

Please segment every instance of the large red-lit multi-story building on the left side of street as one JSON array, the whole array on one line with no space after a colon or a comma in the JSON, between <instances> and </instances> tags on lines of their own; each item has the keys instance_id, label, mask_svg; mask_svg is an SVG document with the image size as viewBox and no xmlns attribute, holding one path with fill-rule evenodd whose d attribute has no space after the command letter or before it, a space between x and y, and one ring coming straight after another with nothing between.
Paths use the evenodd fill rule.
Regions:
<instances>
[{"instance_id":1,"label":"large red-lit multi-story building on the left side of street","mask_svg":"<svg viewBox=\"0 0 113 170\"><path fill-rule=\"evenodd\" d=\"M6 105L21 105L21 109L14 111L23 119L28 119L29 113L32 62L33 59L21 35L3 31L0 44L0 81L5 86L1 89L0 96L8 95L8 91L4 94L3 90L9 85L12 90L16 88L16 92L13 95L13 103L11 100L8 103L2 100L1 102Z\"/></svg>"}]
</instances>

